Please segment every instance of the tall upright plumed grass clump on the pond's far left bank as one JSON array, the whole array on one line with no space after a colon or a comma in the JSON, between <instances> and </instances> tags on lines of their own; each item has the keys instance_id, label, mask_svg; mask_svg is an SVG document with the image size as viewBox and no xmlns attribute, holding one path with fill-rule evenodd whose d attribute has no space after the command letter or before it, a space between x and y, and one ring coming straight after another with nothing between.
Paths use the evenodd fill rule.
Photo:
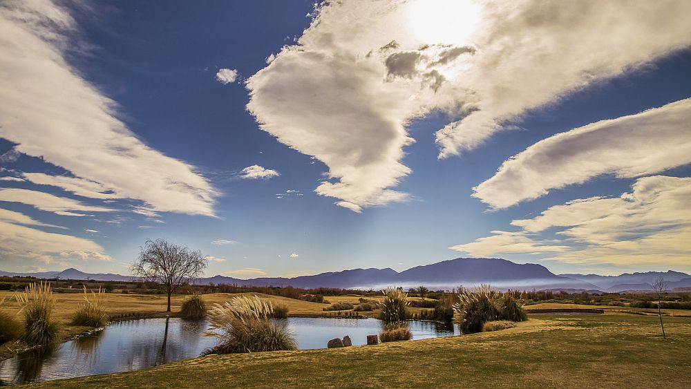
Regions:
<instances>
[{"instance_id":1,"label":"tall upright plumed grass clump on the pond's far left bank","mask_svg":"<svg viewBox=\"0 0 691 389\"><path fill-rule=\"evenodd\" d=\"M53 321L55 296L48 283L30 283L23 294L17 296L24 316L23 339L29 345L48 346L56 343L60 328Z\"/></svg>"}]
</instances>

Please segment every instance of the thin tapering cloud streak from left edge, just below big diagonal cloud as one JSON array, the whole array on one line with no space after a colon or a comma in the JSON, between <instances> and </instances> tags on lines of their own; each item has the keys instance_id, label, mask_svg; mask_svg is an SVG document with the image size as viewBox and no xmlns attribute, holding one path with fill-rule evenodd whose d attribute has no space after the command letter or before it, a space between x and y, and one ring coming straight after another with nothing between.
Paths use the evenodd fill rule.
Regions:
<instances>
[{"instance_id":1,"label":"thin tapering cloud streak from left edge, just below big diagonal cloud","mask_svg":"<svg viewBox=\"0 0 691 389\"><path fill-rule=\"evenodd\" d=\"M0 189L0 201L21 202L22 204L41 209L41 211L55 212L55 214L63 216L84 216L83 214L73 214L69 211L115 211L111 208L86 205L71 198L53 196L50 193L31 191L29 189Z\"/></svg>"}]
</instances>

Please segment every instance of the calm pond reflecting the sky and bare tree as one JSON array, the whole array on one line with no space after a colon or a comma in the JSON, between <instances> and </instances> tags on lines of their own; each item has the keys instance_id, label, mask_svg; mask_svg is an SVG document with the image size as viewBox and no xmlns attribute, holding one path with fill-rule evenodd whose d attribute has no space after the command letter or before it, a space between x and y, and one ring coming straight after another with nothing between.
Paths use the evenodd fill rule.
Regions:
<instances>
[{"instance_id":1,"label":"calm pond reflecting the sky and bare tree","mask_svg":"<svg viewBox=\"0 0 691 389\"><path fill-rule=\"evenodd\" d=\"M377 319L291 317L281 320L298 348L325 348L330 339L348 335L353 345L379 334ZM409 321L413 339L460 334L457 325ZM218 339L204 336L207 321L180 318L121 321L91 336L61 343L49 352L29 351L0 361L0 385L125 372L198 357Z\"/></svg>"}]
</instances>

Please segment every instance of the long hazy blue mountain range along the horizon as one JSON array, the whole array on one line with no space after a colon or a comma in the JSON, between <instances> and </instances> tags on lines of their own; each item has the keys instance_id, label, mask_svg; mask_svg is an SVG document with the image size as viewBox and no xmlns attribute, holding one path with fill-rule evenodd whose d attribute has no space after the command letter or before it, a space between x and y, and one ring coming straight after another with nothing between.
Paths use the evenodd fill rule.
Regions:
<instances>
[{"instance_id":1,"label":"long hazy blue mountain range along the horizon","mask_svg":"<svg viewBox=\"0 0 691 389\"><path fill-rule=\"evenodd\" d=\"M33 276L36 278L61 278L73 280L133 281L131 276L120 274L88 274L77 269L61 272L12 273L0 271L0 276ZM460 285L471 287L481 283L501 289L519 290L587 290L623 292L627 290L652 290L654 280L663 276L668 288L691 287L691 276L681 272L645 272L600 276L597 274L554 274L542 265L518 264L500 258L456 258L412 267L403 272L394 269L350 269L327 272L313 276L294 278L262 277L243 280L228 276L198 278L196 284L225 283L248 286L288 286L301 288L337 287L343 289L379 289L386 286L404 288L424 285L433 290L451 290Z\"/></svg>"}]
</instances>

